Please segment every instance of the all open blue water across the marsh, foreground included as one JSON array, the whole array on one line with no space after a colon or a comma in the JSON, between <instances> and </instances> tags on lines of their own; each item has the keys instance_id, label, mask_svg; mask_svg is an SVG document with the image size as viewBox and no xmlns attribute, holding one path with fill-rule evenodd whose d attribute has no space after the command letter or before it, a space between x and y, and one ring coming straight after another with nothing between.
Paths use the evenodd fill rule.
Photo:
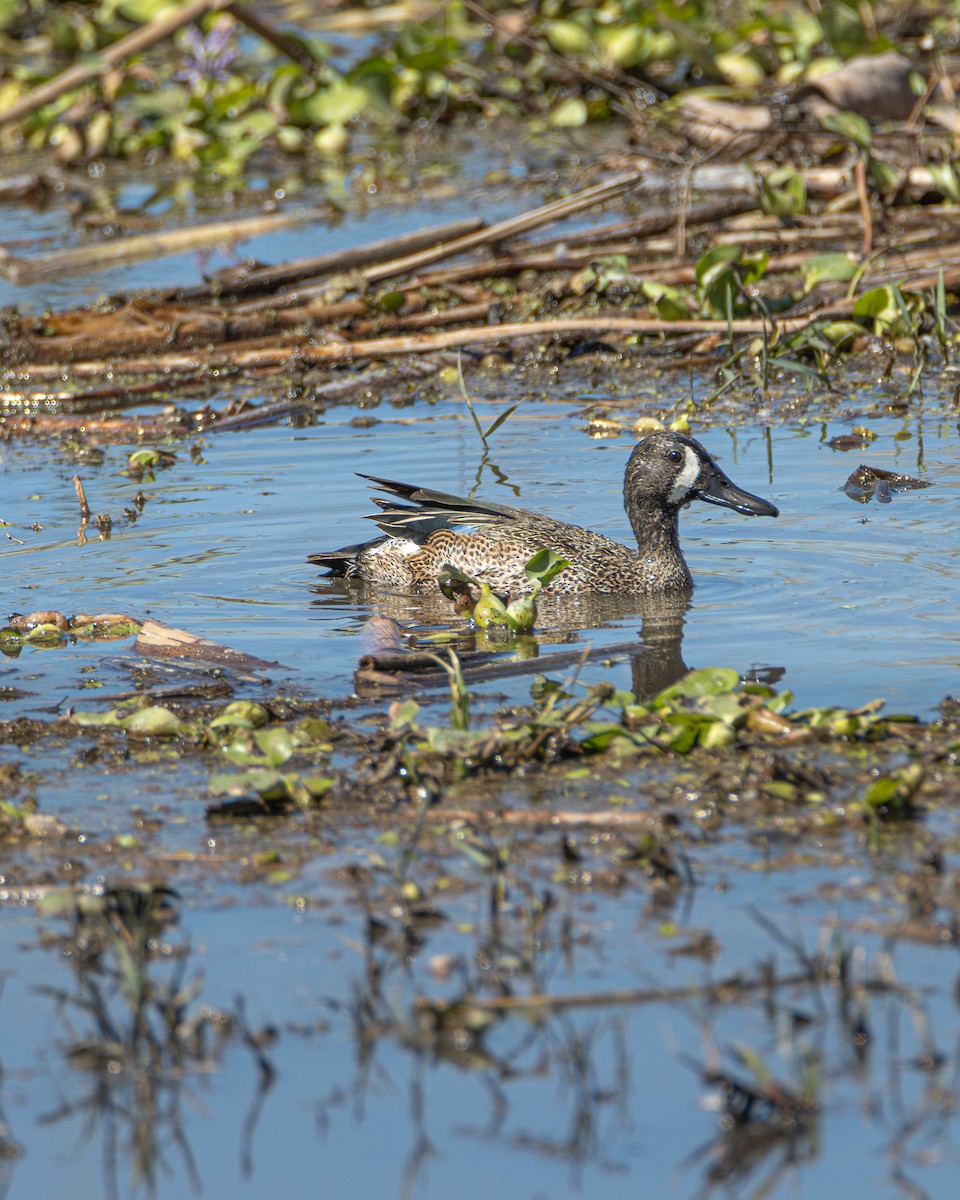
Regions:
<instances>
[{"instance_id":1,"label":"all open blue water across the marsh, foreground included","mask_svg":"<svg viewBox=\"0 0 960 1200\"><path fill-rule=\"evenodd\" d=\"M450 216L438 205L438 221ZM392 221L380 214L376 235L419 223L419 216L397 214ZM56 221L38 215L32 230L54 238ZM310 252L354 235L361 240L360 233L361 222L352 220L338 229L323 228ZM248 248L274 259L307 252L302 232ZM151 272L151 281L193 280L196 266L186 256L172 259ZM83 281L79 290L55 281L34 299L41 305L76 302L142 278L138 269L125 268ZM14 299L8 293L0 289L0 301ZM312 551L373 532L361 520L372 505L355 472L461 493L478 488L490 499L629 540L620 488L630 439L594 440L582 415L584 408L602 406L612 389L598 385L589 370L581 385L572 371L562 374L556 379L518 365L512 377L469 378L481 419L492 419L518 396L530 397L494 434L486 462L456 390L443 386L425 388L413 400L406 394L383 402L373 397L361 412L334 407L304 428L211 434L198 458L175 448L174 466L142 484L120 474L130 448L104 445L102 462L91 464L74 461L58 443L0 443L0 518L24 542L0 539L4 602L7 611L20 612L152 616L276 660L282 666L270 672L275 684L347 696L372 614L388 613L414 626L445 619L430 598L347 588L305 562ZM655 385L644 378L643 392L649 397L659 386L656 400L667 409L685 383L667 376ZM629 388L629 379L617 382L620 398ZM697 391L708 394L709 382ZM572 618L569 610L545 604L544 653L570 640L599 646L640 642L641 632L655 632L659 656L640 660L649 668L646 685L653 685L656 672L679 671L684 664L734 666L782 672L780 686L792 689L799 706L854 706L882 696L895 710L925 714L943 695L960 691L960 433L942 415L944 408L928 412L914 403L905 420L884 415L880 388L860 380L852 391L857 422L877 433L864 450L841 454L826 445L847 432L852 420L768 426L750 415L746 400L730 427L694 427L727 473L776 503L781 516L746 520L702 504L683 514L683 545L696 590L682 640L676 614L671 625L632 601L584 601ZM353 424L358 415L378 424ZM889 504L857 504L841 485L860 462L917 475L932 486L899 493ZM114 517L108 540L92 534L78 544L77 473L94 511ZM124 510L140 490L143 512L128 523ZM66 704L95 707L97 695L128 685L138 661L122 642L25 648L19 658L0 660L0 689L25 692L6 701L0 716L47 715ZM617 677L624 685L635 682L628 662L616 668ZM496 695L522 698L528 686L529 679L500 682ZM257 685L250 688L256 694ZM362 811L344 826L320 812L308 835L290 835L296 844L282 844L278 857L282 866L293 864L290 880L274 883L258 874L253 859L272 850L281 834L241 821L222 827L205 822L206 772L190 762L158 755L152 764L114 769L109 758L88 760L76 746L46 744L5 746L2 757L40 772L41 812L58 814L77 830L76 847L49 852L43 880L76 878L92 887L104 880L125 882L136 875L133 860L120 852L106 864L92 854L88 860L84 846L114 836L144 840L157 863L181 871L182 925L191 970L205 977L203 1000L229 1006L241 995L251 1027L280 1026L278 1042L268 1048L277 1078L266 1094L258 1092L254 1057L238 1043L224 1052L220 1069L188 1074L182 1088L161 1093L166 1100L152 1121L152 1164L154 1192L162 1200L193 1190L217 1200L314 1192L398 1200L613 1200L628 1192L752 1195L767 1184L778 1198L830 1196L854 1187L884 1198L907 1193L948 1200L955 1192L955 1012L953 967L943 958L948 949L898 948L895 966L904 978L929 980L930 990L919 1001L907 1002L895 989L871 998L866 1051L841 1037L845 1026L834 1016L842 1006L824 986L818 995L810 989L787 994L779 1009L754 995L713 1009L702 997L674 997L638 1007L575 1008L542 1021L521 1016L491 1034L486 1049L493 1064L473 1062L464 1070L456 1055L427 1058L396 1031L371 1043L360 1037L358 1014L362 1002L372 1002L376 972L362 954L370 935L362 905L353 877L341 869L390 858L380 827L370 827ZM566 797L574 785L551 776L505 787L508 804L534 808L556 799L554 788ZM632 797L637 788L655 788L655 780L596 781L595 787L589 803L619 803L624 791ZM574 803L583 803L583 793L571 794ZM310 851L298 857L307 836ZM920 829L917 841L923 841ZM694 832L689 842L695 884L666 895L642 880L622 890L607 890L601 881L568 886L565 876L558 880L547 868L536 880L536 896L515 889L505 919L518 947L524 905L551 889L557 898L557 911L539 934L545 971L539 983L558 994L685 988L714 972L749 973L768 958L790 971L796 955L788 940L812 946L830 922L832 936L848 940L854 967L869 956L889 977L893 966L883 958L889 947L871 920L884 904L900 912L900 872L917 857L912 844L902 854L888 848L884 857L882 845L847 838L841 848L839 839L824 834L816 847L800 847L821 854L815 865L778 865L772 856L786 854L788 840L779 842L774 829L745 830L702 847ZM508 839L504 846L511 848ZM582 846L589 852L588 839ZM143 1156L133 1139L144 1097L113 1093L94 1073L65 1066L68 1030L55 997L38 995L36 988L67 986L68 964L56 948L37 948L31 896L16 890L18 878L35 878L37 869L26 851L4 848L0 1136L17 1139L24 1154L0 1156L0 1192L71 1200L149 1194L137 1174ZM246 856L245 876L238 878L223 865L236 860L228 852ZM828 853L836 858L824 865ZM454 877L482 878L469 858L457 854L450 850ZM868 884L872 904L860 890ZM385 956L385 976L376 982L397 1013L409 1012L413 995L456 991L456 979L445 980L433 968L437 958L462 955L461 970L488 968L484 896L479 887L464 896L454 890L444 899L448 922L425 928L422 946L406 958L391 962ZM758 925L757 910L773 917L786 946ZM695 940L701 931L719 938L715 960L713 950L703 956L673 953L678 941L688 935ZM716 1114L701 1110L709 1091L701 1070L710 1061L710 1039L758 1046L791 1078L791 1064L778 1056L788 1042L787 1018L797 1028L811 1021L811 1037L820 1039L823 1128L815 1124L809 1138L755 1147L751 1171L739 1177L727 1164L725 1175L715 1146L710 1153ZM942 1038L942 1061L930 1052L936 1040L930 1030ZM113 1109L104 1104L110 1096ZM924 1140L911 1144L911 1128ZM931 1129L936 1136L928 1138Z\"/></svg>"}]
</instances>

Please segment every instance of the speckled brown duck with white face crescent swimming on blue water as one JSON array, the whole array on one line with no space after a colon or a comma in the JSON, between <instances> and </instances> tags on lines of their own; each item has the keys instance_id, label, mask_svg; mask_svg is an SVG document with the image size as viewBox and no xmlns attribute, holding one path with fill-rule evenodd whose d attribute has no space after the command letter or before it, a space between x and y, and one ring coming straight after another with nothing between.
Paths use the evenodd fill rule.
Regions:
<instances>
[{"instance_id":1,"label":"speckled brown duck with white face crescent swimming on blue water","mask_svg":"<svg viewBox=\"0 0 960 1200\"><path fill-rule=\"evenodd\" d=\"M378 490L409 502L373 497L382 509L368 517L384 536L343 550L311 554L332 575L409 589L436 583L445 563L496 592L529 590L526 562L546 546L570 559L548 592L642 594L689 590L694 584L680 553L677 516L690 500L707 500L751 516L778 510L727 479L703 446L680 433L652 433L630 455L624 505L640 550L602 534L527 509L448 496L428 487L362 475Z\"/></svg>"}]
</instances>

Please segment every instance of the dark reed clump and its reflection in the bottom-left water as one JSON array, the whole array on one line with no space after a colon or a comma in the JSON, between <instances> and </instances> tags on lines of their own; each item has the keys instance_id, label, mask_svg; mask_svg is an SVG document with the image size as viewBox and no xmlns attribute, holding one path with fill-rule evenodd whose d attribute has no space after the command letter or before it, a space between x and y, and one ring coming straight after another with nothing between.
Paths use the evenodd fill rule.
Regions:
<instances>
[{"instance_id":1,"label":"dark reed clump and its reflection in the bottom-left water","mask_svg":"<svg viewBox=\"0 0 960 1200\"><path fill-rule=\"evenodd\" d=\"M187 1080L218 1064L228 1038L246 1044L259 1067L240 1146L245 1170L272 1081L262 1049L266 1036L250 1032L242 1000L234 1012L194 1006L200 980L187 979L190 948L169 941L179 918L176 901L172 889L152 886L98 895L58 893L44 904L48 914L67 922L67 932L53 941L71 965L73 988L40 990L58 1002L67 1032L64 1055L82 1073L85 1088L46 1121L79 1117L88 1136L101 1130L108 1200L126 1194L118 1186L121 1159L131 1190L152 1194L169 1147L190 1188L200 1189L181 1102Z\"/></svg>"}]
</instances>

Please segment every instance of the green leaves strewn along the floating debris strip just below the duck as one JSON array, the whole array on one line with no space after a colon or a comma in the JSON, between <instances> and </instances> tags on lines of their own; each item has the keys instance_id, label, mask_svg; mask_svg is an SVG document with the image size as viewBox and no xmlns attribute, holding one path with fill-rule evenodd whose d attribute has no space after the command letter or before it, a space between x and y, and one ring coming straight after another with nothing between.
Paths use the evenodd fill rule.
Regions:
<instances>
[{"instance_id":1,"label":"green leaves strewn along the floating debris strip just below the duck","mask_svg":"<svg viewBox=\"0 0 960 1200\"><path fill-rule=\"evenodd\" d=\"M452 655L450 688L449 725L426 724L414 700L392 706L389 725L378 736L378 754L388 764L386 774L377 767L378 779L388 778L390 763L404 784L419 786L427 778L451 782L478 770L511 770L560 757L604 756L618 763L637 756L697 750L737 754L756 744L824 739L865 752L871 743L900 739L919 728L913 716L884 714L882 701L856 709L828 706L793 710L788 691L743 684L736 671L724 667L691 671L643 703L607 683L592 684L574 696L564 685L540 678L528 709L486 727L470 726L469 697ZM308 806L336 784L330 767L336 734L330 724L310 716L294 722L277 720L254 701L234 701L214 718L184 720L164 706L146 703L133 710L127 706L103 713L74 712L70 720L84 731L125 736L134 745L168 742L176 744L178 752L216 751L238 768L218 772L209 781L211 794L227 798L227 812L232 802L250 798L268 810ZM958 748L960 743L953 749ZM323 773L318 773L318 763ZM914 761L888 774L874 773L859 810L880 818L910 816L924 778L923 766ZM786 778L773 780L766 791L785 800L802 798L802 792L805 799L815 798ZM852 811L857 809L857 804L851 805Z\"/></svg>"}]
</instances>

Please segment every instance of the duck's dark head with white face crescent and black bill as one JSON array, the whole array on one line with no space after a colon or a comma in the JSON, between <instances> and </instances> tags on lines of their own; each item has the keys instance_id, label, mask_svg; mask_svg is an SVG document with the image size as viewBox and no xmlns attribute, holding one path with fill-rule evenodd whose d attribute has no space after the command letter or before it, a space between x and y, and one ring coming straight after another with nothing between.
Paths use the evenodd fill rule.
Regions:
<instances>
[{"instance_id":1,"label":"duck's dark head with white face crescent and black bill","mask_svg":"<svg viewBox=\"0 0 960 1200\"><path fill-rule=\"evenodd\" d=\"M628 510L642 506L676 512L690 500L706 500L746 516L779 516L769 500L738 487L700 442L683 433L650 433L637 443L626 463L624 498Z\"/></svg>"}]
</instances>

